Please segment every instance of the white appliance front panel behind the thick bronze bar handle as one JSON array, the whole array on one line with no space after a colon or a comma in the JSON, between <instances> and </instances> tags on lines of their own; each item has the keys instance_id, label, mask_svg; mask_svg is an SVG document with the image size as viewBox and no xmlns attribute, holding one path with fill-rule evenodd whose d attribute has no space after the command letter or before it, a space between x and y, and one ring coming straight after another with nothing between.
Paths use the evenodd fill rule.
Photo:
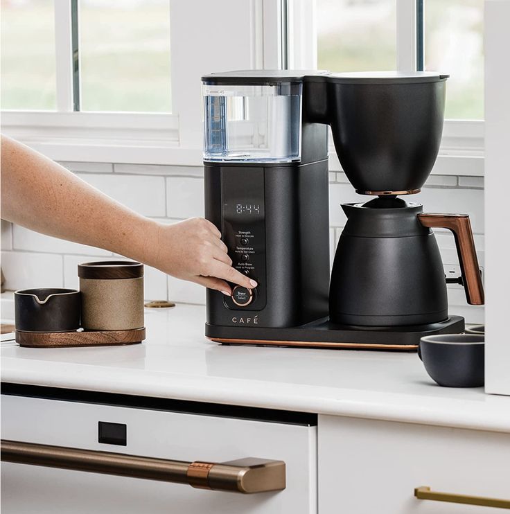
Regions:
<instances>
[{"instance_id":1,"label":"white appliance front panel behind the thick bronze bar handle","mask_svg":"<svg viewBox=\"0 0 510 514\"><path fill-rule=\"evenodd\" d=\"M125 445L99 443L100 422L125 425ZM1 508L6 514L317 511L317 427L306 423L2 395L1 434L11 441L173 461L221 463L257 457L286 464L284 490L243 495L196 489L187 484L4 462ZM123 442L122 437L114 441Z\"/></svg>"}]
</instances>

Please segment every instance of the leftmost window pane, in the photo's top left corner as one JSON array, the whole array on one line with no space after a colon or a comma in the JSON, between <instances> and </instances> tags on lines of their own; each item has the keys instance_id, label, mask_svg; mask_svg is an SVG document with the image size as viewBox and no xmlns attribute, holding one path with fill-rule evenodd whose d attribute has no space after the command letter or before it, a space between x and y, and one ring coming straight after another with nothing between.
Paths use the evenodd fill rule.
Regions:
<instances>
[{"instance_id":1,"label":"leftmost window pane, in the photo's top left corner","mask_svg":"<svg viewBox=\"0 0 510 514\"><path fill-rule=\"evenodd\" d=\"M2 109L56 108L53 0L1 0Z\"/></svg>"}]
</instances>

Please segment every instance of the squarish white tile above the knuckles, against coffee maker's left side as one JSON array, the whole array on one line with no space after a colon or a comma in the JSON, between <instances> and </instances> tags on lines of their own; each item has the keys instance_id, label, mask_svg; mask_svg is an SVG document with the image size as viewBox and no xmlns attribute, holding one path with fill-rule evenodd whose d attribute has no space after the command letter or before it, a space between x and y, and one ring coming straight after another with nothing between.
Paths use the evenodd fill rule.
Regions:
<instances>
[{"instance_id":1,"label":"squarish white tile above the knuckles, against coffee maker's left side","mask_svg":"<svg viewBox=\"0 0 510 514\"><path fill-rule=\"evenodd\" d=\"M188 177L167 178L166 202L169 218L203 218L204 181Z\"/></svg>"}]
</instances>

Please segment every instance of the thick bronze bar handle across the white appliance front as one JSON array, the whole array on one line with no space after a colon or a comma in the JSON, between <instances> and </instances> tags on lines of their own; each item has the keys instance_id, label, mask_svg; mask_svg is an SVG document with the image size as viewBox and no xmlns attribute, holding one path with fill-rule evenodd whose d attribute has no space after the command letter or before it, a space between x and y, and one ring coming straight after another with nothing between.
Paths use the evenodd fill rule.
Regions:
<instances>
[{"instance_id":1,"label":"thick bronze bar handle across the white appliance front","mask_svg":"<svg viewBox=\"0 0 510 514\"><path fill-rule=\"evenodd\" d=\"M169 461L2 439L1 460L31 466L189 484L195 488L234 493L263 493L285 489L285 462L254 457L223 463Z\"/></svg>"}]
</instances>

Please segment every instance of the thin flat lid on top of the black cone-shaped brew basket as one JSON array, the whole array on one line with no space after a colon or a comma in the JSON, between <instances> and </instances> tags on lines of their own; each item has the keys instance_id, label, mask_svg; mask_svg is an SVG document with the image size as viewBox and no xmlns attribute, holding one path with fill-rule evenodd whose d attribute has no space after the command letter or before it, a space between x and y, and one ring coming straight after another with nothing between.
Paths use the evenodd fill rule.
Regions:
<instances>
[{"instance_id":1,"label":"thin flat lid on top of the black cone-shaped brew basket","mask_svg":"<svg viewBox=\"0 0 510 514\"><path fill-rule=\"evenodd\" d=\"M441 82L449 77L436 71L351 71L330 73L328 76L306 76L306 82L332 82L334 84L412 84Z\"/></svg>"}]
</instances>

